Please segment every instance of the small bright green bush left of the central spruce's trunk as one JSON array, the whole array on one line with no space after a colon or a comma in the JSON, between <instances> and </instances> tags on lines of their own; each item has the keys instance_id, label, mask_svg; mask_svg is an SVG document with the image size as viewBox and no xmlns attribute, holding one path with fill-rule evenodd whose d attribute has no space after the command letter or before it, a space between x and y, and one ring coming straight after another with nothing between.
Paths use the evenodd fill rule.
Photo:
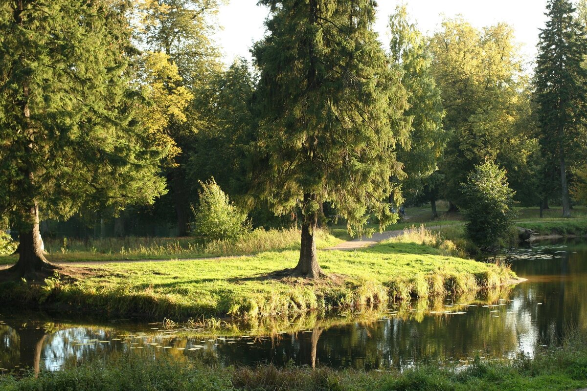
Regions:
<instances>
[{"instance_id":1,"label":"small bright green bush left of the central spruce's trunk","mask_svg":"<svg viewBox=\"0 0 587 391\"><path fill-rule=\"evenodd\" d=\"M247 213L230 202L214 178L200 185L200 205L194 210L196 236L206 241L237 239L251 230Z\"/></svg>"}]
</instances>

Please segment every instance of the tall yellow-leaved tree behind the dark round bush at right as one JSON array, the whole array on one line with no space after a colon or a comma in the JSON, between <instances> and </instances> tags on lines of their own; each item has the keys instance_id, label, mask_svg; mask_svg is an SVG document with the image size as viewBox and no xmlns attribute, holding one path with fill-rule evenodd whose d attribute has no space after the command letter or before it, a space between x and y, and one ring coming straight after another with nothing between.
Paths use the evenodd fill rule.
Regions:
<instances>
[{"instance_id":1,"label":"tall yellow-leaved tree behind the dark round bush at right","mask_svg":"<svg viewBox=\"0 0 587 391\"><path fill-rule=\"evenodd\" d=\"M524 164L525 129L518 119L528 106L527 86L510 26L479 31L463 19L447 19L430 40L433 74L450 132L441 163L444 196L463 202L460 183L485 159Z\"/></svg>"}]
</instances>

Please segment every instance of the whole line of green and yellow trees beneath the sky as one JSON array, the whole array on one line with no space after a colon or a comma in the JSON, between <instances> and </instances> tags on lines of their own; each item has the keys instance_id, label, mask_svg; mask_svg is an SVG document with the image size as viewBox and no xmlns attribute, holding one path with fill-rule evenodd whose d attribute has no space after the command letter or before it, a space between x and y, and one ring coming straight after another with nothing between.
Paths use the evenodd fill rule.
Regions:
<instances>
[{"instance_id":1,"label":"whole line of green and yellow trees beneath the sky","mask_svg":"<svg viewBox=\"0 0 587 391\"><path fill-rule=\"evenodd\" d=\"M295 220L291 273L304 277L323 274L325 214L363 234L403 203L468 210L480 178L521 205L560 201L565 217L571 195L587 199L585 0L548 0L532 67L505 23L457 16L425 36L399 6L382 45L372 0L259 4L266 36L252 63L228 67L211 39L217 0L0 5L0 215L20 238L10 273L55 268L41 219L141 215L186 236L211 178L252 226Z\"/></svg>"}]
</instances>

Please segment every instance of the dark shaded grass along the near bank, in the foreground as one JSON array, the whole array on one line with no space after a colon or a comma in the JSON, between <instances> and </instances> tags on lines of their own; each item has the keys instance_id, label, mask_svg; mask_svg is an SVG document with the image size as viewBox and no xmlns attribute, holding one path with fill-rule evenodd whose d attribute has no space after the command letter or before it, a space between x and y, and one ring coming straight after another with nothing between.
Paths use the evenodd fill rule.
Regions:
<instances>
[{"instance_id":1,"label":"dark shaded grass along the near bank, in the foreground","mask_svg":"<svg viewBox=\"0 0 587 391\"><path fill-rule=\"evenodd\" d=\"M587 341L568 339L560 349L539 350L535 358L476 359L465 369L416 365L403 372L363 372L308 367L224 368L213 359L178 361L146 355L120 355L38 378L0 376L1 391L77 390L259 390L259 391L417 391L417 390L573 390L587 386Z\"/></svg>"}]
</instances>

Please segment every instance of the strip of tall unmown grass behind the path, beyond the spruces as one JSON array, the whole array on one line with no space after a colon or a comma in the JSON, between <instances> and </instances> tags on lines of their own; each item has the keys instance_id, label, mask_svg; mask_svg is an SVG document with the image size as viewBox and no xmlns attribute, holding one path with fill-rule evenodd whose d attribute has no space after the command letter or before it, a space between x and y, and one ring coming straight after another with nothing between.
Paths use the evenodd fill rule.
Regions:
<instances>
[{"instance_id":1,"label":"strip of tall unmown grass behind the path, beyond the spruces","mask_svg":"<svg viewBox=\"0 0 587 391\"><path fill-rule=\"evenodd\" d=\"M197 242L194 238L122 237L106 239L46 239L47 257L53 262L112 261L141 259L192 259L239 256L299 249L299 229L262 230L244 234L238 240ZM325 230L318 232L318 248L334 246L339 239ZM18 256L2 256L0 264L15 263Z\"/></svg>"}]
</instances>

